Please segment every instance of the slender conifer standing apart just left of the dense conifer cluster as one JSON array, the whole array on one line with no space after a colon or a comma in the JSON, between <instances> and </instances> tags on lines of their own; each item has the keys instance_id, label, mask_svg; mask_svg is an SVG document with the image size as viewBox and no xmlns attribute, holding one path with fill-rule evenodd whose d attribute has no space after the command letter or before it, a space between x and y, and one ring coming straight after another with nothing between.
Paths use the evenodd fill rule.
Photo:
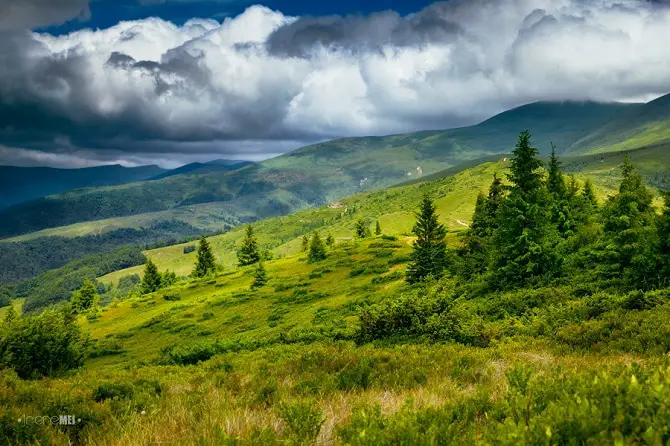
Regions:
<instances>
[{"instance_id":1,"label":"slender conifer standing apart just left of the dense conifer cluster","mask_svg":"<svg viewBox=\"0 0 670 446\"><path fill-rule=\"evenodd\" d=\"M428 277L442 276L447 267L446 228L439 223L435 204L425 195L416 215L412 232L417 236L407 268L407 282L418 283Z\"/></svg>"}]
</instances>

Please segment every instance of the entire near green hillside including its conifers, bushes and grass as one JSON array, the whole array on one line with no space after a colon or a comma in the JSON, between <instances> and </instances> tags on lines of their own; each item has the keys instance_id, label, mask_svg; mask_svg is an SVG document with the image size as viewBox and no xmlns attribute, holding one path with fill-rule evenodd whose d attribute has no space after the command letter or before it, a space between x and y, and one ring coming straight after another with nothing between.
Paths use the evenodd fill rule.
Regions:
<instances>
[{"instance_id":1,"label":"entire near green hillside including its conifers, bushes and grass","mask_svg":"<svg viewBox=\"0 0 670 446\"><path fill-rule=\"evenodd\" d=\"M5 310L8 419L81 422L3 433L665 444L670 196L634 161L594 187L614 174L568 176L524 132L507 160L150 251L40 316Z\"/></svg>"}]
</instances>

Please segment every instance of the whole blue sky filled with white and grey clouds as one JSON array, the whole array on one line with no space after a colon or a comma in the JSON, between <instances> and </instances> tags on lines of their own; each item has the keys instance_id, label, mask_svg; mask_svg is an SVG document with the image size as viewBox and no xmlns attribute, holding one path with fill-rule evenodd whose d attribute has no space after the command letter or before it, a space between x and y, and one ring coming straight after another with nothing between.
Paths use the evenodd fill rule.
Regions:
<instances>
[{"instance_id":1,"label":"whole blue sky filled with white and grey clouds","mask_svg":"<svg viewBox=\"0 0 670 446\"><path fill-rule=\"evenodd\" d=\"M670 91L670 3L0 0L0 164L176 167Z\"/></svg>"}]
</instances>

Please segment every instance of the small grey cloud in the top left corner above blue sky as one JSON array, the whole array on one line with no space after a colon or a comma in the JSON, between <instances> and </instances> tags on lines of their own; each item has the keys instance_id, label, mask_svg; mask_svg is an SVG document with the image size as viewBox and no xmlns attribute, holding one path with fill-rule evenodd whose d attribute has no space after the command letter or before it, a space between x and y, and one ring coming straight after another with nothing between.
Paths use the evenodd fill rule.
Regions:
<instances>
[{"instance_id":1,"label":"small grey cloud in the top left corner above blue sky","mask_svg":"<svg viewBox=\"0 0 670 446\"><path fill-rule=\"evenodd\" d=\"M0 31L32 29L89 15L88 0L2 0Z\"/></svg>"}]
</instances>

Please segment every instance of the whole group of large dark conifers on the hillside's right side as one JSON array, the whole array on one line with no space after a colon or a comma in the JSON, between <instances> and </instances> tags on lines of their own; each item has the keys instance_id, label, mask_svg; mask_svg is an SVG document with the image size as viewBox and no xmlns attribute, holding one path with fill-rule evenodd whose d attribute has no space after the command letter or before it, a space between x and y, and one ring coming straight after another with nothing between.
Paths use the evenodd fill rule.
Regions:
<instances>
[{"instance_id":1,"label":"whole group of large dark conifers on the hillside's right side","mask_svg":"<svg viewBox=\"0 0 670 446\"><path fill-rule=\"evenodd\" d=\"M520 134L507 182L494 175L477 197L458 249L426 196L417 212L407 281L452 274L488 290L507 290L579 276L594 286L651 289L670 283L670 195L657 214L653 194L628 156L615 195L600 205L589 180L565 176L552 145L545 166L531 135Z\"/></svg>"}]
</instances>

